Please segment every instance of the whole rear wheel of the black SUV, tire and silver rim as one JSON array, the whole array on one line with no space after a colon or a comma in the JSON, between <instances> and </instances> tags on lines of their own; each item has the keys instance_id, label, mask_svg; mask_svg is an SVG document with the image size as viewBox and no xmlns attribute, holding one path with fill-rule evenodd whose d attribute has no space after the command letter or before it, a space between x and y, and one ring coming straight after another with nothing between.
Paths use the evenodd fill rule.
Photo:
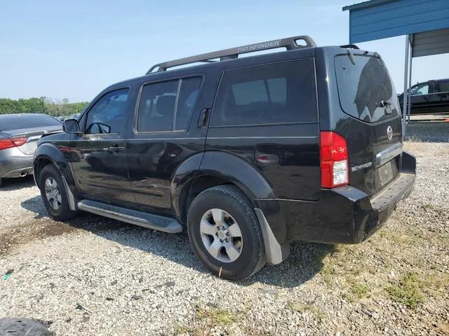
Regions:
<instances>
[{"instance_id":1,"label":"whole rear wheel of the black SUV, tire and silver rim","mask_svg":"<svg viewBox=\"0 0 449 336\"><path fill-rule=\"evenodd\" d=\"M253 206L233 186L210 188L194 198L187 233L204 267L224 279L246 279L265 265L262 230Z\"/></svg>"}]
</instances>

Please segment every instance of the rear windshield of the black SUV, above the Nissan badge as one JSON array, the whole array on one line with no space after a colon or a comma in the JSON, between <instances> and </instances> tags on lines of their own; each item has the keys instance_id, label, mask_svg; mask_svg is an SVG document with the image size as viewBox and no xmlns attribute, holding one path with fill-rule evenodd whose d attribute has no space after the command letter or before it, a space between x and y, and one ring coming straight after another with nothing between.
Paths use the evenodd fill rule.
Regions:
<instances>
[{"instance_id":1,"label":"rear windshield of the black SUV, above the Nissan badge","mask_svg":"<svg viewBox=\"0 0 449 336\"><path fill-rule=\"evenodd\" d=\"M380 57L354 55L335 57L340 105L344 112L375 123L400 111L396 91ZM355 64L354 64L355 63Z\"/></svg>"}]
</instances>

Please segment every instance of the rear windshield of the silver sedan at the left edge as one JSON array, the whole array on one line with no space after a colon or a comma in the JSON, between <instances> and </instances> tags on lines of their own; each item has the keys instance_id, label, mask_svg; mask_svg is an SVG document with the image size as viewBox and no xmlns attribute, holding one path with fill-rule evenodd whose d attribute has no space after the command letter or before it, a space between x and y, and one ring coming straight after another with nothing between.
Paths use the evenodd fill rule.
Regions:
<instances>
[{"instance_id":1,"label":"rear windshield of the silver sedan at the left edge","mask_svg":"<svg viewBox=\"0 0 449 336\"><path fill-rule=\"evenodd\" d=\"M0 132L48 126L62 127L62 123L51 116L43 116L40 114L15 114L11 116L0 116Z\"/></svg>"}]
</instances>

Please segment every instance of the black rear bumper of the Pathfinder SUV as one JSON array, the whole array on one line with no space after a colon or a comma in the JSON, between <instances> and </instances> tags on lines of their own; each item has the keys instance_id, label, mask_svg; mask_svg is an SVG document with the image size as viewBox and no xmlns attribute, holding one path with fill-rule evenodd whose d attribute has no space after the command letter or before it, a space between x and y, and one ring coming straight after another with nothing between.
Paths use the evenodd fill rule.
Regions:
<instances>
[{"instance_id":1,"label":"black rear bumper of the Pathfinder SUV","mask_svg":"<svg viewBox=\"0 0 449 336\"><path fill-rule=\"evenodd\" d=\"M257 200L279 244L315 241L357 244L373 235L415 184L415 157L403 152L398 177L370 198L351 186L321 190L316 202Z\"/></svg>"}]
</instances>

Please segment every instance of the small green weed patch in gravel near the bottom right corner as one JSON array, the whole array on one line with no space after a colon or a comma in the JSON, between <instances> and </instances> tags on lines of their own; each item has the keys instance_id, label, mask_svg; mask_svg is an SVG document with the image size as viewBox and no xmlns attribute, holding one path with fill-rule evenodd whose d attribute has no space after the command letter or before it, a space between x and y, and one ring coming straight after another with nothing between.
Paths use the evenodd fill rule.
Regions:
<instances>
[{"instance_id":1,"label":"small green weed patch in gravel near the bottom right corner","mask_svg":"<svg viewBox=\"0 0 449 336\"><path fill-rule=\"evenodd\" d=\"M408 273L401 277L398 283L386 288L387 293L396 302L405 304L411 309L415 309L424 302L424 294L421 290L422 281L418 279L416 273Z\"/></svg>"}]
</instances>

